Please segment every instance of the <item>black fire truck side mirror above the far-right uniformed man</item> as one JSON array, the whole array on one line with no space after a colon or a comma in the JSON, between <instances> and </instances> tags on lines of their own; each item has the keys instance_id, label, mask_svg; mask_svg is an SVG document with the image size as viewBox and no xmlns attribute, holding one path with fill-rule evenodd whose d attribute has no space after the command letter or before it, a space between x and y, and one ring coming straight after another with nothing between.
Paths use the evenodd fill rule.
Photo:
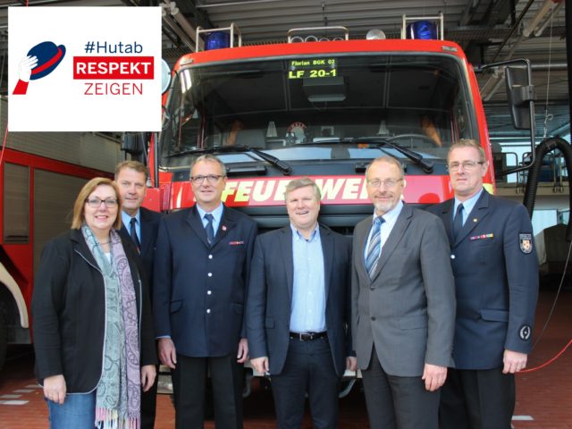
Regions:
<instances>
[{"instance_id":1,"label":"black fire truck side mirror above the far-right uniformed man","mask_svg":"<svg viewBox=\"0 0 572 429\"><path fill-rule=\"evenodd\" d=\"M534 85L523 67L506 68L507 97L512 123L517 130L530 130L530 102L536 98Z\"/></svg>"}]
</instances>

